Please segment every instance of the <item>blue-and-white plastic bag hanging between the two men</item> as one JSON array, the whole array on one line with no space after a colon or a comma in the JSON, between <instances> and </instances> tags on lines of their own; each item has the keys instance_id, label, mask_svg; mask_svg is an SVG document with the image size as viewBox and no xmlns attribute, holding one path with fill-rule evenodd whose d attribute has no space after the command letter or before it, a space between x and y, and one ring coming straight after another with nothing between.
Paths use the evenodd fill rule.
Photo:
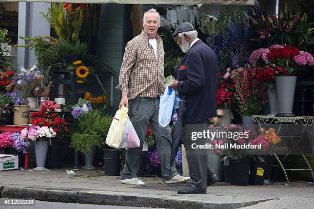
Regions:
<instances>
[{"instance_id":1,"label":"blue-and-white plastic bag hanging between the two men","mask_svg":"<svg viewBox=\"0 0 314 209\"><path fill-rule=\"evenodd\" d=\"M158 121L161 127L168 126L171 120L174 99L175 91L170 86L168 86L168 88L166 88L165 90L164 95L161 96L159 103Z\"/></svg>"}]
</instances>

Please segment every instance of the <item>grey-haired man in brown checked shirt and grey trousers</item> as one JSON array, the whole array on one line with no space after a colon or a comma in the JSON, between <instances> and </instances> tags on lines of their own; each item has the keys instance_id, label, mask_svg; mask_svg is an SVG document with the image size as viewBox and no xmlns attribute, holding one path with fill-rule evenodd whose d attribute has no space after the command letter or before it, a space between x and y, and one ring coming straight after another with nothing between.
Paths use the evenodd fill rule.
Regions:
<instances>
[{"instance_id":1,"label":"grey-haired man in brown checked shirt and grey trousers","mask_svg":"<svg viewBox=\"0 0 314 209\"><path fill-rule=\"evenodd\" d=\"M122 106L129 108L130 120L141 141L139 148L126 150L125 166L120 181L125 184L145 184L136 173L139 171L148 123L156 139L164 183L178 183L190 179L179 176L175 164L170 165L170 128L160 127L158 122L160 95L165 91L165 52L163 40L157 35L159 27L159 13L155 9L145 12L142 33L130 40L125 47L119 85L116 87L122 92L119 108Z\"/></svg>"}]
</instances>

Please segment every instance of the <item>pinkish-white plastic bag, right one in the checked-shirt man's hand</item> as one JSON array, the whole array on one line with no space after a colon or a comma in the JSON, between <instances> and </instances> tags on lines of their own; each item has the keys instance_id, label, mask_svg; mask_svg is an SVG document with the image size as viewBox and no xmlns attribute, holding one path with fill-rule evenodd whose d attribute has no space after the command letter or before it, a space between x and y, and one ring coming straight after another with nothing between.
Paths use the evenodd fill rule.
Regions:
<instances>
[{"instance_id":1,"label":"pinkish-white plastic bag, right one in the checked-shirt man's hand","mask_svg":"<svg viewBox=\"0 0 314 209\"><path fill-rule=\"evenodd\" d=\"M138 147L140 147L139 136L138 134L136 134L129 116L127 116L126 120L123 123L122 140L119 149Z\"/></svg>"}]
</instances>

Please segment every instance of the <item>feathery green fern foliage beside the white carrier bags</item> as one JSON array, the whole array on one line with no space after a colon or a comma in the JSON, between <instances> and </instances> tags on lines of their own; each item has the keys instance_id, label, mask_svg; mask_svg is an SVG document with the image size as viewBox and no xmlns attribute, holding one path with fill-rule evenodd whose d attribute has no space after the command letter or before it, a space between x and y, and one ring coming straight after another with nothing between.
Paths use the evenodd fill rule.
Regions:
<instances>
[{"instance_id":1,"label":"feathery green fern foliage beside the white carrier bags","mask_svg":"<svg viewBox=\"0 0 314 209\"><path fill-rule=\"evenodd\" d=\"M105 145L105 138L112 122L112 117L103 115L103 110L93 110L74 121L70 127L70 147L84 154L90 151L91 145Z\"/></svg>"}]
</instances>

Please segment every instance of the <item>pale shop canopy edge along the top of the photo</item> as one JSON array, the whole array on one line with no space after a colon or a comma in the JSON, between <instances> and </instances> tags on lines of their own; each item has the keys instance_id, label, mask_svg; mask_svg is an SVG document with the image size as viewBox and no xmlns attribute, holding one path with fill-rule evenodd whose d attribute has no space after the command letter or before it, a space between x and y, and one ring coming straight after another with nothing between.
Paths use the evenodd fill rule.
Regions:
<instances>
[{"instance_id":1,"label":"pale shop canopy edge along the top of the photo","mask_svg":"<svg viewBox=\"0 0 314 209\"><path fill-rule=\"evenodd\" d=\"M254 0L2 0L1 2L69 2L69 3L115 3L115 4L173 4L173 5L253 5Z\"/></svg>"}]
</instances>

